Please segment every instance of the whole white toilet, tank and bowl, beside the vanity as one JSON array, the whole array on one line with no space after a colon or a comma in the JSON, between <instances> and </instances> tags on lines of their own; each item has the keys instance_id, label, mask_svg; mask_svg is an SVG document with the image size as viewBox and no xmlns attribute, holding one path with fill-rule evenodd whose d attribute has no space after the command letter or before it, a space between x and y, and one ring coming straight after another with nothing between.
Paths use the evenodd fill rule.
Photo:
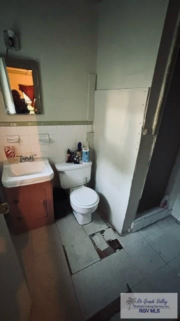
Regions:
<instances>
[{"instance_id":1,"label":"whole white toilet, tank and bowl, beside the vanity","mask_svg":"<svg viewBox=\"0 0 180 321\"><path fill-rule=\"evenodd\" d=\"M90 181L92 162L82 164L55 163L62 189L70 189L70 205L78 224L92 221L99 203L98 194L85 186Z\"/></svg>"}]
</instances>

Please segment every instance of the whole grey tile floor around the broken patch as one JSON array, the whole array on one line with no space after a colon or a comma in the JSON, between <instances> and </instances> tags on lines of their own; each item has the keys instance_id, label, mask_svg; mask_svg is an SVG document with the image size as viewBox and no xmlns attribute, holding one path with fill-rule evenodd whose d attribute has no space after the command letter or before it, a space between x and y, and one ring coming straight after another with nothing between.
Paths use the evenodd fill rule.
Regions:
<instances>
[{"instance_id":1,"label":"whole grey tile floor around the broken patch","mask_svg":"<svg viewBox=\"0 0 180 321\"><path fill-rule=\"evenodd\" d=\"M32 298L30 321L87 320L127 282L133 292L180 294L180 225L172 217L118 237L123 249L100 260L89 235L107 228L96 212L86 226L68 214L12 236Z\"/></svg>"}]
</instances>

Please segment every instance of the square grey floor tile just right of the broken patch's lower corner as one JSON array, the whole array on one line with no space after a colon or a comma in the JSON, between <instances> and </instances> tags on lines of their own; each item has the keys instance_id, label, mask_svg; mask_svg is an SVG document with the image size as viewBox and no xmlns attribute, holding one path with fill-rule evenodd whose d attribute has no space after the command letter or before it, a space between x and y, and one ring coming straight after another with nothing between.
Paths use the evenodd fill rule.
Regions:
<instances>
[{"instance_id":1,"label":"square grey floor tile just right of the broken patch's lower corner","mask_svg":"<svg viewBox=\"0 0 180 321\"><path fill-rule=\"evenodd\" d=\"M147 277L165 264L145 239L128 245L125 247L125 251L144 277Z\"/></svg>"}]
</instances>

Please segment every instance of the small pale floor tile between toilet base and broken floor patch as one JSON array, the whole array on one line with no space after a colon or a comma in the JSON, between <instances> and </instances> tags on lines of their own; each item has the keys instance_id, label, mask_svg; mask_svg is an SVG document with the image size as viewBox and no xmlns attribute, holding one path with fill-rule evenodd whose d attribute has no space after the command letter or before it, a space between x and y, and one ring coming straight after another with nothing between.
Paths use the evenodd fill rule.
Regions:
<instances>
[{"instance_id":1,"label":"small pale floor tile between toilet base and broken floor patch","mask_svg":"<svg viewBox=\"0 0 180 321\"><path fill-rule=\"evenodd\" d=\"M98 231L106 229L107 225L102 220L102 218L99 216L99 214L97 212L94 212L92 214L92 222L87 225L83 225L83 228L84 228L86 234L90 235L90 234L93 234Z\"/></svg>"}]
</instances>

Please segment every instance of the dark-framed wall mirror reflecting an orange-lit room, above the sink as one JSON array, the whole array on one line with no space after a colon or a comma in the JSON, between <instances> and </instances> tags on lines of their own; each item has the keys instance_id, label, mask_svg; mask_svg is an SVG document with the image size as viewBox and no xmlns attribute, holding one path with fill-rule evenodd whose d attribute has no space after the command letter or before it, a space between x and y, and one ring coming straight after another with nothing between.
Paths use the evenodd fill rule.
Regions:
<instances>
[{"instance_id":1,"label":"dark-framed wall mirror reflecting an orange-lit room, above the sink","mask_svg":"<svg viewBox=\"0 0 180 321\"><path fill-rule=\"evenodd\" d=\"M6 114L40 114L35 61L0 57L0 90Z\"/></svg>"}]
</instances>

